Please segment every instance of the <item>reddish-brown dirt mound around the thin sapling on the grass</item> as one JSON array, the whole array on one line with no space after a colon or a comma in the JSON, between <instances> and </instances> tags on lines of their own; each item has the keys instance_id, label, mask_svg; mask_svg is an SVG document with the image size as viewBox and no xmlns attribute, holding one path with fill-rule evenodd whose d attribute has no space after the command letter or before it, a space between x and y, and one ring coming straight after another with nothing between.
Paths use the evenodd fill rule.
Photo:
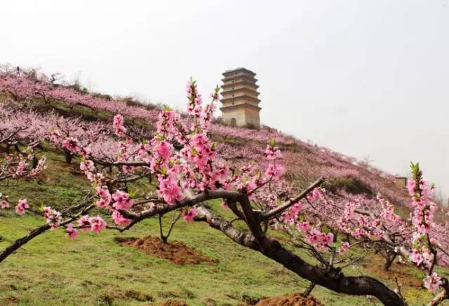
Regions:
<instances>
[{"instance_id":1,"label":"reddish-brown dirt mound around the thin sapling on the grass","mask_svg":"<svg viewBox=\"0 0 449 306\"><path fill-rule=\"evenodd\" d=\"M122 246L133 246L159 258L172 261L177 265L196 265L199 263L217 264L218 260L210 258L201 251L179 241L164 244L159 237L147 236L143 238L116 239Z\"/></svg>"}]
</instances>

